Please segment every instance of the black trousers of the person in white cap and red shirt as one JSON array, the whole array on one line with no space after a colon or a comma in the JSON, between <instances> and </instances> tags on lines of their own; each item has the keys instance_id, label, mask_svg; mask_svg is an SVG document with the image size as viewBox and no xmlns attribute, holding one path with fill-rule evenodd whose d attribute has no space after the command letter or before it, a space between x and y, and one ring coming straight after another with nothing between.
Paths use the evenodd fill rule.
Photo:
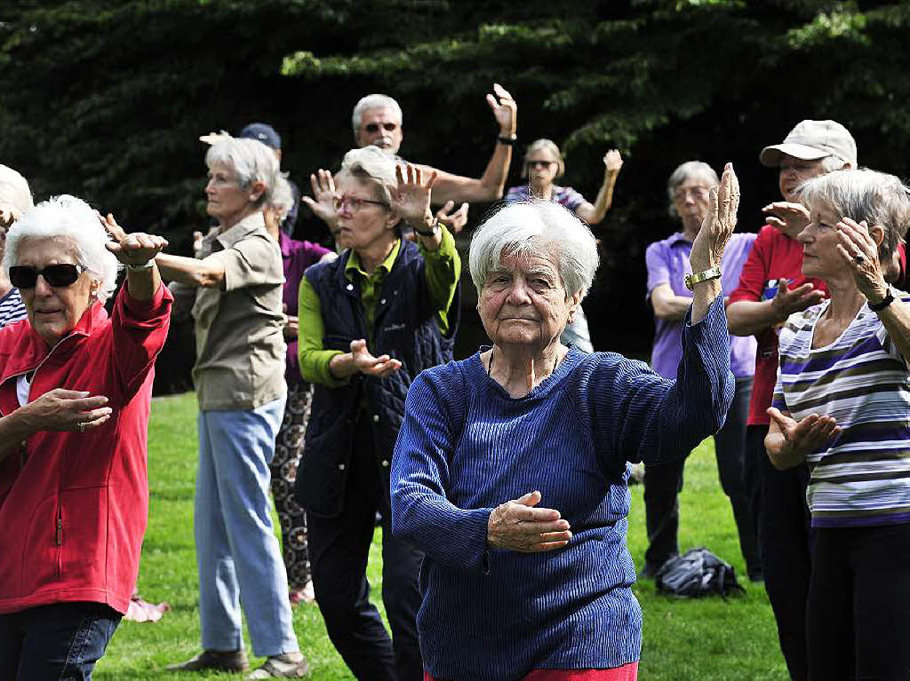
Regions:
<instances>
[{"instance_id":1,"label":"black trousers of the person in white cap and red shirt","mask_svg":"<svg viewBox=\"0 0 910 681\"><path fill-rule=\"evenodd\" d=\"M812 574L811 525L805 503L809 469L779 471L764 450L768 426L746 429L746 481L757 511L758 544L762 552L764 589L774 612L781 652L790 677L809 676L805 607Z\"/></svg>"}]
</instances>

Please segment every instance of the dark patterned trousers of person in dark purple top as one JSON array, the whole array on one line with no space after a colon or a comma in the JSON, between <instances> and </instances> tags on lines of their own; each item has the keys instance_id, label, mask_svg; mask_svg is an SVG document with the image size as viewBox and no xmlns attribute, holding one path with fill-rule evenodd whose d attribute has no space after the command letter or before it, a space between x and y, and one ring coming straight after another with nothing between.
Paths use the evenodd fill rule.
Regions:
<instances>
[{"instance_id":1,"label":"dark patterned trousers of person in dark purple top","mask_svg":"<svg viewBox=\"0 0 910 681\"><path fill-rule=\"evenodd\" d=\"M288 384L288 402L284 421L275 440L272 471L272 497L281 524L281 547L288 587L302 589L310 580L307 550L307 516L294 499L297 466L303 455L303 435L307 430L313 386L308 383Z\"/></svg>"}]
</instances>

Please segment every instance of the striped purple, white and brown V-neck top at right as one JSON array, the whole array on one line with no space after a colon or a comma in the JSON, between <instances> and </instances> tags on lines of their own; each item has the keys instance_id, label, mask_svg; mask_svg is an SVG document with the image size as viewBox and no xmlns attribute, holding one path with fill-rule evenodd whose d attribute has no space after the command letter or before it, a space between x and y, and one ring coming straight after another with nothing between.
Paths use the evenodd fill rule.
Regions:
<instances>
[{"instance_id":1,"label":"striped purple, white and brown V-neck top at right","mask_svg":"<svg viewBox=\"0 0 910 681\"><path fill-rule=\"evenodd\" d=\"M910 301L910 295L901 294ZM815 527L910 522L910 374L863 305L829 346L812 347L830 301L791 315L780 334L773 406L797 421L833 416L843 431L806 456Z\"/></svg>"}]
</instances>

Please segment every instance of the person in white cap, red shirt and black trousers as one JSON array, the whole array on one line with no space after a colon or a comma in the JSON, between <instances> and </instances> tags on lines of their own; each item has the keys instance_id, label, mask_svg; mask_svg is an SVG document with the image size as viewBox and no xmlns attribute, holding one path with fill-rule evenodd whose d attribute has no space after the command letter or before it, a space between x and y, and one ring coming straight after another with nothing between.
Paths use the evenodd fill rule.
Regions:
<instances>
[{"instance_id":1,"label":"person in white cap, red shirt and black trousers","mask_svg":"<svg viewBox=\"0 0 910 681\"><path fill-rule=\"evenodd\" d=\"M818 175L856 167L856 143L844 125L806 120L780 145L763 148L762 165L777 168L784 201L764 206L766 225L730 295L727 322L734 335L758 341L755 378L746 427L744 470L762 552L764 586L777 621L781 650L794 680L808 677L805 600L811 572L806 466L778 471L764 451L765 410L777 372L777 331L794 312L820 303L824 283L803 275L803 245L796 235L810 222L799 187Z\"/></svg>"}]
</instances>

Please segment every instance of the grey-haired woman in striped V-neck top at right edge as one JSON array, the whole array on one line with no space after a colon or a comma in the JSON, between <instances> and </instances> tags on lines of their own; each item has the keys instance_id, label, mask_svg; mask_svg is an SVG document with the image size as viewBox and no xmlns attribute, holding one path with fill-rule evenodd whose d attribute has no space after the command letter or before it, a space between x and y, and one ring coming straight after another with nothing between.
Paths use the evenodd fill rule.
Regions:
<instances>
[{"instance_id":1,"label":"grey-haired woman in striped V-neck top at right edge","mask_svg":"<svg viewBox=\"0 0 910 681\"><path fill-rule=\"evenodd\" d=\"M910 295L883 266L910 224L908 192L850 170L800 194L803 274L831 297L781 331L764 444L774 466L810 467L810 679L910 678Z\"/></svg>"}]
</instances>

